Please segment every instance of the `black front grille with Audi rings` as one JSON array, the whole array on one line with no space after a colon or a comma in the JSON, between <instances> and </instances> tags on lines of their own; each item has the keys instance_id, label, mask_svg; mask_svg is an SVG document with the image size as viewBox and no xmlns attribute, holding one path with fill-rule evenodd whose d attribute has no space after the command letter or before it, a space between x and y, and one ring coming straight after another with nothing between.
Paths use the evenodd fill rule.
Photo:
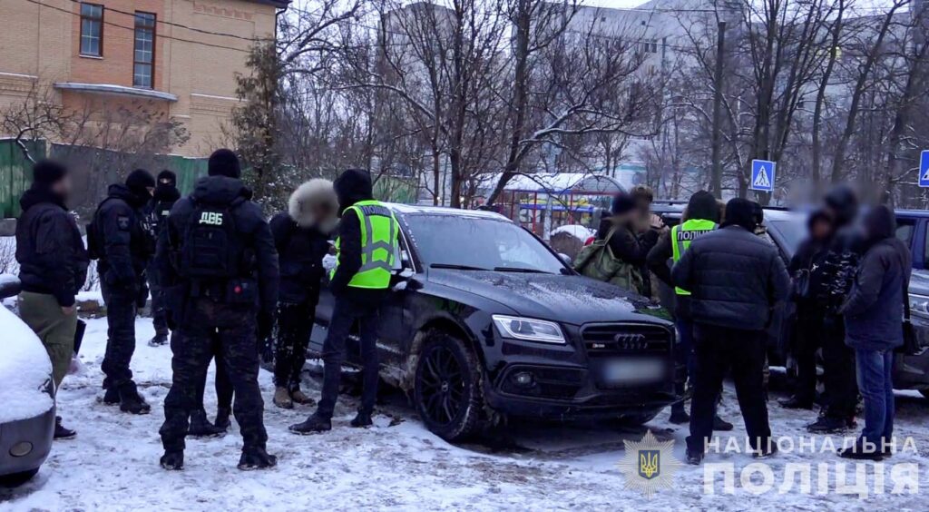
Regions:
<instances>
[{"instance_id":1,"label":"black front grille with Audi rings","mask_svg":"<svg viewBox=\"0 0 929 512\"><path fill-rule=\"evenodd\" d=\"M667 354L674 343L672 330L648 323L592 323L583 326L581 337L593 357Z\"/></svg>"}]
</instances>

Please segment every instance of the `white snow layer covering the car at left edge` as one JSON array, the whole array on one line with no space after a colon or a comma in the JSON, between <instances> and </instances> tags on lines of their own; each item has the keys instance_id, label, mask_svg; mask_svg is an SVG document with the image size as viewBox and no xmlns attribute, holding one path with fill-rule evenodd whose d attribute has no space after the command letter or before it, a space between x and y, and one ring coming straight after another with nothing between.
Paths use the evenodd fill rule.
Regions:
<instances>
[{"instance_id":1,"label":"white snow layer covering the car at left edge","mask_svg":"<svg viewBox=\"0 0 929 512\"><path fill-rule=\"evenodd\" d=\"M32 329L0 306L0 424L46 413L55 402L44 391L52 374L46 349Z\"/></svg>"}]
</instances>

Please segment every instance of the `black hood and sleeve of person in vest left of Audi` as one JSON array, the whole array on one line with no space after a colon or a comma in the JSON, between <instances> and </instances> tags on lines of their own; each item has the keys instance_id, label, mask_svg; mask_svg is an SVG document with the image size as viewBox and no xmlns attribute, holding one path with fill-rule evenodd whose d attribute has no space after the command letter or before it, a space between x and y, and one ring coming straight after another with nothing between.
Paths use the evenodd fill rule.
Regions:
<instances>
[{"instance_id":1,"label":"black hood and sleeve of person in vest left of Audi","mask_svg":"<svg viewBox=\"0 0 929 512\"><path fill-rule=\"evenodd\" d=\"M373 197L371 175L357 169L348 169L333 183L339 197L342 220L339 222L339 266L329 286L334 295L346 292L348 282L361 268L361 223L350 206Z\"/></svg>"}]
</instances>

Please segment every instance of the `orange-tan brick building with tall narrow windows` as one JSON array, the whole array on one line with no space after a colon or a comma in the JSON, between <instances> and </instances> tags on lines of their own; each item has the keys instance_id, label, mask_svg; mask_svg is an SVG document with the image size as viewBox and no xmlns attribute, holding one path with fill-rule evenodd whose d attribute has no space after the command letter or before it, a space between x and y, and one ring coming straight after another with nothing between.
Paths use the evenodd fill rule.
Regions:
<instances>
[{"instance_id":1,"label":"orange-tan brick building with tall narrow windows","mask_svg":"<svg viewBox=\"0 0 929 512\"><path fill-rule=\"evenodd\" d=\"M0 0L0 109L42 88L97 122L115 109L155 112L190 134L171 153L206 155L238 103L235 73L246 71L255 39L274 37L275 15L288 4Z\"/></svg>"}]
</instances>

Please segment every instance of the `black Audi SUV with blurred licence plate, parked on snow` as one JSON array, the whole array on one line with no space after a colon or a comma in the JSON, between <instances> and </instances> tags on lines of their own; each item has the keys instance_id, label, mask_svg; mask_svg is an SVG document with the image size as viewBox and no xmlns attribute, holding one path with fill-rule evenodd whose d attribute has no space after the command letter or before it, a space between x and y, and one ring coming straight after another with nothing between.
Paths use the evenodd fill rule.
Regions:
<instances>
[{"instance_id":1,"label":"black Audi SUV with blurred licence plate, parked on snow","mask_svg":"<svg viewBox=\"0 0 929 512\"><path fill-rule=\"evenodd\" d=\"M656 303L577 275L495 213L390 208L400 254L381 310L382 376L411 392L438 436L461 440L505 416L642 424L678 400L674 328ZM311 351L332 309L323 292Z\"/></svg>"}]
</instances>

